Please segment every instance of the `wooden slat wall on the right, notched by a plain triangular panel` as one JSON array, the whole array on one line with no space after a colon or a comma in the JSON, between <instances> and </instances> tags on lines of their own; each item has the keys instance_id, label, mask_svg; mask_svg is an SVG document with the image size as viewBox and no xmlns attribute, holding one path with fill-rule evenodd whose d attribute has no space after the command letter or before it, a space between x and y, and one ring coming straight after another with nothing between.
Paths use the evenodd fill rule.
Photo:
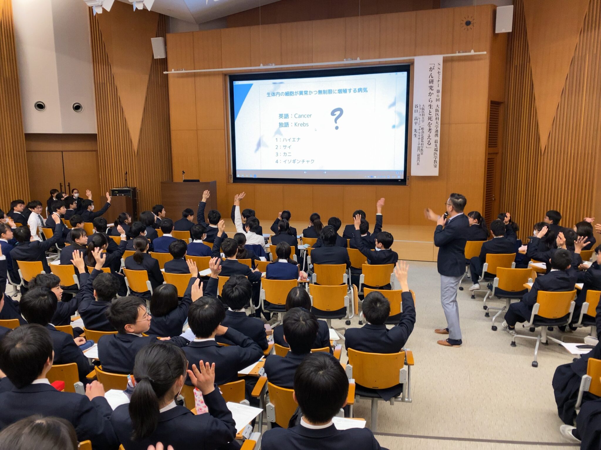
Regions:
<instances>
[{"instance_id":1,"label":"wooden slat wall on the right, notched by a plain triangular panel","mask_svg":"<svg viewBox=\"0 0 601 450\"><path fill-rule=\"evenodd\" d=\"M502 210L531 233L548 209L573 226L601 217L601 2L591 1L545 152L540 138L522 0L515 2L507 59Z\"/></svg>"}]
</instances>

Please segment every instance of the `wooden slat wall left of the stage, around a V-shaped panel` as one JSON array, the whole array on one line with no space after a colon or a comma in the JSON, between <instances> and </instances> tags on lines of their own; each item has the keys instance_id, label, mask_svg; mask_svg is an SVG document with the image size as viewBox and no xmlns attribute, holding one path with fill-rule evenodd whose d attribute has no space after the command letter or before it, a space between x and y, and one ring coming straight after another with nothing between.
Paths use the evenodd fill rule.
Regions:
<instances>
[{"instance_id":1,"label":"wooden slat wall left of the stage, around a V-shaped panel","mask_svg":"<svg viewBox=\"0 0 601 450\"><path fill-rule=\"evenodd\" d=\"M112 10L111 14L113 13L118 13L118 10ZM154 14L148 11L139 11L139 13ZM160 182L171 180L169 94L167 79L163 74L166 70L166 60L152 60L138 148L134 149L105 41L91 10L90 29L102 190L123 186L124 172L127 170L128 184L138 187L140 191L138 211L144 211L160 202ZM165 17L162 15L158 20L156 36L165 36ZM119 36L114 35L111 40L115 43L119 41ZM121 45L123 49L127 49L127 41L121 41Z\"/></svg>"}]
</instances>

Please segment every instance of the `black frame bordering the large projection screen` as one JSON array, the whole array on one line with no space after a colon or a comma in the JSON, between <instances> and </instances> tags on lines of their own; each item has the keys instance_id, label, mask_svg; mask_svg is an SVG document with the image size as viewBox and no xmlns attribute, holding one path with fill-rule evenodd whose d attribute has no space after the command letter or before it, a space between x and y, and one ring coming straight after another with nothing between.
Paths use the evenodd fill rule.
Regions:
<instances>
[{"instance_id":1,"label":"black frame bordering the large projection screen","mask_svg":"<svg viewBox=\"0 0 601 450\"><path fill-rule=\"evenodd\" d=\"M405 155L403 178L400 179L319 179L319 178L240 178L236 175L236 129L234 125L234 82L265 79L293 79L293 78L315 78L331 77L344 75L364 75L374 73L406 72L407 73L407 95L405 104ZM382 64L365 65L361 67L341 67L332 69L308 69L295 71L270 71L270 72L252 72L243 74L228 74L228 97L229 97L229 117L230 117L230 161L231 161L231 182L244 184L369 184L369 185L407 185L407 156L409 155L409 97L410 97L410 76L411 64Z\"/></svg>"}]
</instances>

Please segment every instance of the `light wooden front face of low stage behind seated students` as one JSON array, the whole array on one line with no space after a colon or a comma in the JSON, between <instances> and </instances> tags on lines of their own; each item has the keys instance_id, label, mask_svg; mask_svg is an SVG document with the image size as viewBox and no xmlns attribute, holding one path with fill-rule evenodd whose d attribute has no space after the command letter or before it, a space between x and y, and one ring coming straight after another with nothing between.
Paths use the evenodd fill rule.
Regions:
<instances>
[{"instance_id":1,"label":"light wooden front face of low stage behind seated students","mask_svg":"<svg viewBox=\"0 0 601 450\"><path fill-rule=\"evenodd\" d=\"M263 233L273 234L269 229L273 223L273 219L267 220L259 218ZM297 233L302 233L302 230L307 228L309 224L304 221L291 221L291 226L296 228ZM340 227L340 232L346 224L343 223ZM436 224L432 222L430 226L410 226L410 225L385 225L384 230L391 233L394 237L392 250L398 253L399 259L410 261L436 261L438 256L438 247L434 245L434 230ZM225 218L225 232L228 236L233 236L236 233L236 228L229 217Z\"/></svg>"}]
</instances>

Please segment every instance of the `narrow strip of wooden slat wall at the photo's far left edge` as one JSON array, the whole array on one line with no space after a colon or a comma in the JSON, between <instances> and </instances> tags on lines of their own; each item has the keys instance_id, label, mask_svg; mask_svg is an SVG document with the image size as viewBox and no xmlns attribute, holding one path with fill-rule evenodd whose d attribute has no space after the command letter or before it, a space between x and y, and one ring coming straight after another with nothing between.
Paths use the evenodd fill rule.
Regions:
<instances>
[{"instance_id":1,"label":"narrow strip of wooden slat wall at the photo's far left edge","mask_svg":"<svg viewBox=\"0 0 601 450\"><path fill-rule=\"evenodd\" d=\"M0 0L0 158L0 208L7 212L11 200L29 201L11 0Z\"/></svg>"}]
</instances>

